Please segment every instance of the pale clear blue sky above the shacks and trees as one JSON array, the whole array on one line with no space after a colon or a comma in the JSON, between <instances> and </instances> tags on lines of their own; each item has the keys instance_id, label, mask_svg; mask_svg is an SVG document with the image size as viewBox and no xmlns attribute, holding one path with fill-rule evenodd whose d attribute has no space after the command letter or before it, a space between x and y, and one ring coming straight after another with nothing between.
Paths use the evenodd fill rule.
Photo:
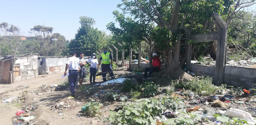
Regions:
<instances>
[{"instance_id":1,"label":"pale clear blue sky above the shacks and trees","mask_svg":"<svg viewBox=\"0 0 256 125\"><path fill-rule=\"evenodd\" d=\"M80 27L79 17L88 16L96 21L95 28L110 34L106 25L115 22L112 12L118 3L121 0L2 0L0 23L18 26L24 36L35 25L50 26L70 40Z\"/></svg>"}]
</instances>

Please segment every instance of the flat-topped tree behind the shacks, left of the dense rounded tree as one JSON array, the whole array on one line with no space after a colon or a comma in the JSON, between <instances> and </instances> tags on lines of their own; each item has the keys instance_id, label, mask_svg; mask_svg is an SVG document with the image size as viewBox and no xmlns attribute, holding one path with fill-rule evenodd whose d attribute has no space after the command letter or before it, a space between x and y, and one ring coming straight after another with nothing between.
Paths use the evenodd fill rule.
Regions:
<instances>
[{"instance_id":1,"label":"flat-topped tree behind the shacks, left of the dense rounded tree","mask_svg":"<svg viewBox=\"0 0 256 125\"><path fill-rule=\"evenodd\" d=\"M66 48L66 39L59 33L53 33L53 27L37 25L30 29L36 38L36 48L40 56L59 56Z\"/></svg>"}]
</instances>

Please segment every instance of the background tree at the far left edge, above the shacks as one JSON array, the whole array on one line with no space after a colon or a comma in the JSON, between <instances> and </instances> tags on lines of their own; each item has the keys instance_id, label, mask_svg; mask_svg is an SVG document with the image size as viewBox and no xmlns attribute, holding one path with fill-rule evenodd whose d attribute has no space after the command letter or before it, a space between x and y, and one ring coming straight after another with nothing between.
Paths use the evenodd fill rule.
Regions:
<instances>
[{"instance_id":1,"label":"background tree at the far left edge, above the shacks","mask_svg":"<svg viewBox=\"0 0 256 125\"><path fill-rule=\"evenodd\" d=\"M0 55L14 55L18 53L22 40L19 38L20 29L6 22L0 23Z\"/></svg>"}]
</instances>

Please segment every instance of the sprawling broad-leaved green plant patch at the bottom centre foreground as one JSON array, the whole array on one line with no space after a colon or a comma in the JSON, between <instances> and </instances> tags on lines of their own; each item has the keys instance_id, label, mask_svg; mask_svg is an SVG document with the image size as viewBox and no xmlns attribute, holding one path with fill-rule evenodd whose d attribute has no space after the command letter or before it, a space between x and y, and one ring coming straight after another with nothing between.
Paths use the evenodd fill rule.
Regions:
<instances>
[{"instance_id":1,"label":"sprawling broad-leaved green plant patch at the bottom centre foreground","mask_svg":"<svg viewBox=\"0 0 256 125\"><path fill-rule=\"evenodd\" d=\"M144 99L138 100L138 103L129 102L123 104L123 109L118 112L110 110L110 116L106 121L109 121L112 125L156 124L155 116L160 116L165 109L174 112L178 107L184 106L181 103L183 103L182 100L177 98Z\"/></svg>"}]
</instances>

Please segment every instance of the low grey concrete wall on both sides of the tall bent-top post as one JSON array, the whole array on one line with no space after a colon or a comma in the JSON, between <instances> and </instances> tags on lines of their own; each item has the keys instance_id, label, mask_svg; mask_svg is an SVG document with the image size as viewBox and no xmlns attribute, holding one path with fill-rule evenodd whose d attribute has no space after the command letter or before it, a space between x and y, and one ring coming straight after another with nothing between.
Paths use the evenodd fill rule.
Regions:
<instances>
[{"instance_id":1,"label":"low grey concrete wall on both sides of the tall bent-top post","mask_svg":"<svg viewBox=\"0 0 256 125\"><path fill-rule=\"evenodd\" d=\"M197 76L215 77L216 70L213 66L203 66L190 64L190 72L194 72ZM236 67L225 65L224 82L227 85L243 86L251 88L256 84L256 69L246 67Z\"/></svg>"}]
</instances>

